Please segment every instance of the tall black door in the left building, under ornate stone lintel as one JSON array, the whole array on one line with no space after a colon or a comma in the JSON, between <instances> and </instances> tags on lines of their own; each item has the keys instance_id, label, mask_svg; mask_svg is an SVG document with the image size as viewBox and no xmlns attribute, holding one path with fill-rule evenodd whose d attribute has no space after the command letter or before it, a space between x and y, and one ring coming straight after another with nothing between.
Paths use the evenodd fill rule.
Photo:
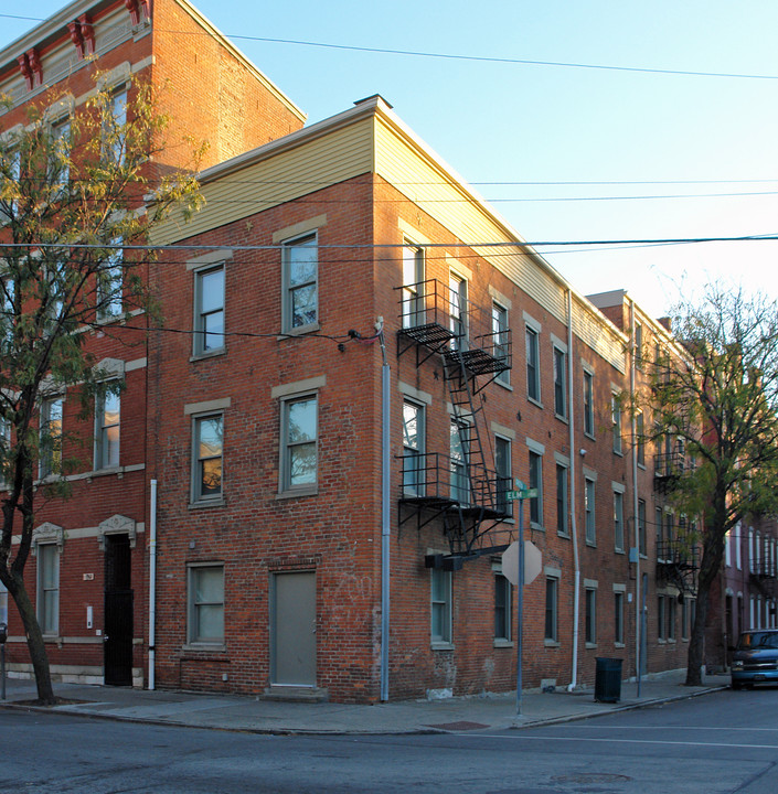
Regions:
<instances>
[{"instance_id":1,"label":"tall black door in the left building, under ornate stone lintel","mask_svg":"<svg viewBox=\"0 0 778 794\"><path fill-rule=\"evenodd\" d=\"M128 535L105 536L105 683L132 685L132 589Z\"/></svg>"}]
</instances>

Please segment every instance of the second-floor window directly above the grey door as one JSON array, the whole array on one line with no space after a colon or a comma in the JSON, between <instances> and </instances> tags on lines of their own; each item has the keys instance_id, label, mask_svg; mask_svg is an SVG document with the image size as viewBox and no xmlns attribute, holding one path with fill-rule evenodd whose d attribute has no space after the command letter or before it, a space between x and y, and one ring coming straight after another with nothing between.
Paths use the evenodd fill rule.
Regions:
<instances>
[{"instance_id":1,"label":"second-floor window directly above the grey door","mask_svg":"<svg viewBox=\"0 0 778 794\"><path fill-rule=\"evenodd\" d=\"M281 491L317 484L318 398L306 395L281 403Z\"/></svg>"}]
</instances>

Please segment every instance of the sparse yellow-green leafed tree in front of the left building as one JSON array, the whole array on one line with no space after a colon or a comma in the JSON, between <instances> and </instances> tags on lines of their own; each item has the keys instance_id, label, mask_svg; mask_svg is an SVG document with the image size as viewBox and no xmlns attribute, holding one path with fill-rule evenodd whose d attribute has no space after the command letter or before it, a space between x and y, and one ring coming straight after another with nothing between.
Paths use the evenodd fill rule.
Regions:
<instances>
[{"instance_id":1,"label":"sparse yellow-green leafed tree in front of the left building","mask_svg":"<svg viewBox=\"0 0 778 794\"><path fill-rule=\"evenodd\" d=\"M90 331L119 336L127 318L152 309L149 256L127 246L173 205L196 208L199 193L193 148L190 170L158 164L167 118L151 86L136 82L129 98L98 88L76 111L66 96L44 101L0 137L0 581L24 626L39 700L52 704L24 567L35 511L67 496L74 461L63 459L61 414L46 396L70 386L92 409L106 386Z\"/></svg>"}]
</instances>

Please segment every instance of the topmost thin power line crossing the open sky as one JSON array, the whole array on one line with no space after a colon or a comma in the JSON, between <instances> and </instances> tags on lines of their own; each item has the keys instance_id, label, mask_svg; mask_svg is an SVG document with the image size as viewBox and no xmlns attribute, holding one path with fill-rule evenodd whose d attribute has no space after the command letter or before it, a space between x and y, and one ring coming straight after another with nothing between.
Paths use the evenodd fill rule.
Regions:
<instances>
[{"instance_id":1,"label":"topmost thin power line crossing the open sky","mask_svg":"<svg viewBox=\"0 0 778 794\"><path fill-rule=\"evenodd\" d=\"M33 22L44 22L45 20L33 17L15 17L13 14L0 14L0 18L6 19L24 19ZM171 30L157 30L158 33L168 33L171 35L203 35L210 36L211 34L206 31L192 32L192 31L171 31ZM595 69L603 72L630 72L637 74L656 74L656 75L669 75L669 76L683 76L683 77L722 77L728 79L778 79L778 75L765 75L765 74L749 74L739 72L701 72L694 69L669 69L669 68L656 68L646 66L615 66L612 64L590 64L574 61L541 61L530 58L511 58L500 57L495 55L462 55L459 53L440 53L430 52L424 50L394 50L390 47L370 47L370 46L358 46L353 44L333 44L331 42L313 42L299 39L271 39L268 36L252 36L245 34L225 34L228 39L236 41L253 41L263 42L267 44L291 44L294 46L308 46L319 47L326 50L343 50L347 52L363 52L379 55L402 55L411 57L426 57L426 58L438 58L444 61L468 61L476 63L501 63L501 64L513 64L519 66L554 66L557 68L580 68L580 69Z\"/></svg>"}]
</instances>

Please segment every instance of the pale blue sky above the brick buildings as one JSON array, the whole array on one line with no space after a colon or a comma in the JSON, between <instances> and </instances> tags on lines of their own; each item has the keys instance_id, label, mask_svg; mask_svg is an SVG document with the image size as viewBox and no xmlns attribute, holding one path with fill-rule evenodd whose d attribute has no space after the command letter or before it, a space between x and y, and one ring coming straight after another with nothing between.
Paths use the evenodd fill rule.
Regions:
<instances>
[{"instance_id":1,"label":"pale blue sky above the brick buildings","mask_svg":"<svg viewBox=\"0 0 778 794\"><path fill-rule=\"evenodd\" d=\"M2 0L0 46L64 4ZM778 240L542 245L778 234L775 0L194 4L309 124L381 94L579 292L778 300Z\"/></svg>"}]
</instances>

